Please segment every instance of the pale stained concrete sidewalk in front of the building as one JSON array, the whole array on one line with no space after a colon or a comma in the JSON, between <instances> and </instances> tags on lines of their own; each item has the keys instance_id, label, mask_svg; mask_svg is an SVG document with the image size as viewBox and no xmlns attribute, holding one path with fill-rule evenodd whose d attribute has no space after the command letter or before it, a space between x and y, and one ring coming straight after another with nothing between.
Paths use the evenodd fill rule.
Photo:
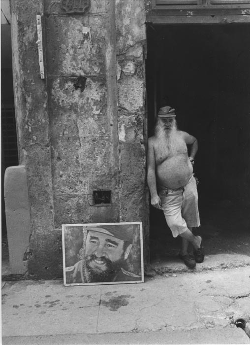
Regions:
<instances>
[{"instance_id":1,"label":"pale stained concrete sidewalk in front of the building","mask_svg":"<svg viewBox=\"0 0 250 345\"><path fill-rule=\"evenodd\" d=\"M2 283L3 344L250 344L250 266L141 284Z\"/></svg>"}]
</instances>

